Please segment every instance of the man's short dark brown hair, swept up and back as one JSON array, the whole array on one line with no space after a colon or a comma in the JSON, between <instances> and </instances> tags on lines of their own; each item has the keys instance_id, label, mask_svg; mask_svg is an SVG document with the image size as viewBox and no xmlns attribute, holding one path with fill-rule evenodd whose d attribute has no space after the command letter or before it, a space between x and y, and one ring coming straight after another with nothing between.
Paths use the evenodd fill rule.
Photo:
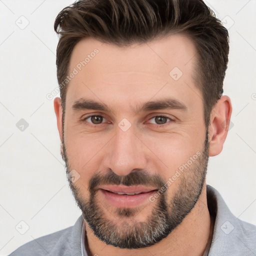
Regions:
<instances>
[{"instance_id":1,"label":"man's short dark brown hair, swept up and back","mask_svg":"<svg viewBox=\"0 0 256 256\"><path fill-rule=\"evenodd\" d=\"M189 35L197 50L196 86L203 95L204 122L222 94L228 62L227 29L202 0L79 0L63 8L54 22L58 83L68 74L74 45L82 38L129 46L172 33ZM67 86L60 87L65 109Z\"/></svg>"}]
</instances>

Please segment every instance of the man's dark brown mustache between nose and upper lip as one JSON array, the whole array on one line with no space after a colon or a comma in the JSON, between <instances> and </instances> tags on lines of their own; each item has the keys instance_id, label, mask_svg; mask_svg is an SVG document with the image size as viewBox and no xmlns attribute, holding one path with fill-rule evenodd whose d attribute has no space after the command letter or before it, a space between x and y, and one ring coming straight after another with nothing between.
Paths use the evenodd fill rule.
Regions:
<instances>
[{"instance_id":1,"label":"man's dark brown mustache between nose and upper lip","mask_svg":"<svg viewBox=\"0 0 256 256\"><path fill-rule=\"evenodd\" d=\"M99 185L145 185L154 186L160 189L165 181L159 174L149 174L148 171L141 169L133 169L129 174L125 176L119 176L115 174L112 170L104 175L102 173L95 173L92 175L89 181L89 191L93 192L97 189Z\"/></svg>"}]
</instances>

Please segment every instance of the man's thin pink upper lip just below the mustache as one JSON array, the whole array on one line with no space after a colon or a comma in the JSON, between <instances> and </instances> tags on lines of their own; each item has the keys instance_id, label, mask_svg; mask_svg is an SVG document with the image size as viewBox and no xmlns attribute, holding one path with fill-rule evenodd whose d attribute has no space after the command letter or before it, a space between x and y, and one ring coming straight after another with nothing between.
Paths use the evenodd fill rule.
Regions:
<instances>
[{"instance_id":1,"label":"man's thin pink upper lip just below the mustache","mask_svg":"<svg viewBox=\"0 0 256 256\"><path fill-rule=\"evenodd\" d=\"M156 188L145 187L141 185L137 186L125 186L125 185L103 185L100 189L108 190L113 193L146 193Z\"/></svg>"}]
</instances>

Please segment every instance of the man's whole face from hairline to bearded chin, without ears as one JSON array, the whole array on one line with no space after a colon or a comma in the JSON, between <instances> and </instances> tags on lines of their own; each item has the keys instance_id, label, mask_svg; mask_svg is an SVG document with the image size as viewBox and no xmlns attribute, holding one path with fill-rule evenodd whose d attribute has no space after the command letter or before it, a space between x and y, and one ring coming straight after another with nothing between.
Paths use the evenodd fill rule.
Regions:
<instances>
[{"instance_id":1,"label":"man's whole face from hairline to bearded chin, without ears","mask_svg":"<svg viewBox=\"0 0 256 256\"><path fill-rule=\"evenodd\" d=\"M87 38L72 51L69 73L78 72L67 88L62 157L84 219L107 244L152 245L199 198L208 139L195 60L178 34L125 48ZM169 107L155 104L163 100ZM84 104L92 101L104 108Z\"/></svg>"}]
</instances>

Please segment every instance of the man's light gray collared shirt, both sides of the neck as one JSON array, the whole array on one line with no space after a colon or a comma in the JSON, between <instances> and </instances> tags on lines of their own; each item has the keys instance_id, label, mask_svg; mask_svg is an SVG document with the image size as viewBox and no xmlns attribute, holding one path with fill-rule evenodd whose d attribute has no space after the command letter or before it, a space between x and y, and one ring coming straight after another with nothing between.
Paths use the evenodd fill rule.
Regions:
<instances>
[{"instance_id":1,"label":"man's light gray collared shirt, both sides of the neck","mask_svg":"<svg viewBox=\"0 0 256 256\"><path fill-rule=\"evenodd\" d=\"M207 205L215 224L208 256L256 256L256 226L236 218L219 192L207 185ZM9 256L88 256L82 215L73 226L23 244Z\"/></svg>"}]
</instances>

